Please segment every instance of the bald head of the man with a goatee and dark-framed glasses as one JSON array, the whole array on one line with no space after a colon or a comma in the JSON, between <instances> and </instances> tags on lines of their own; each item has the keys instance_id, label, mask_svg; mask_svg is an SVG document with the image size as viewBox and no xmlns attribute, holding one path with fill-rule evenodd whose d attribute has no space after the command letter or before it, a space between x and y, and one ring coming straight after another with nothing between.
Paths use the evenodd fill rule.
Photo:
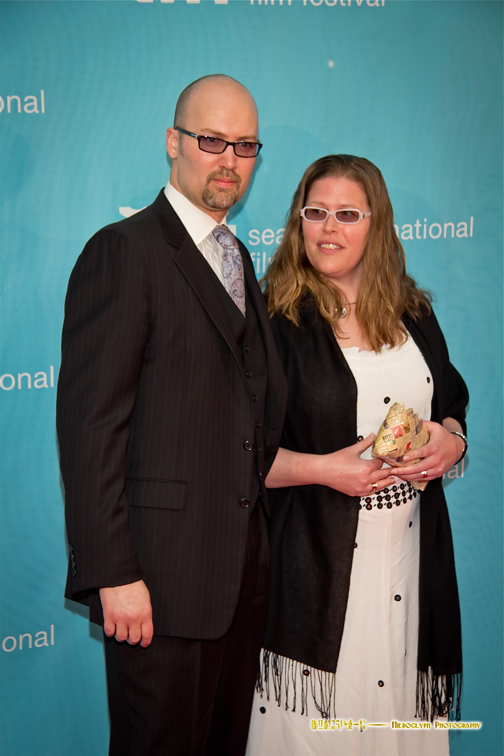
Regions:
<instances>
[{"instance_id":1,"label":"bald head of the man with a goatee and dark-framed glasses","mask_svg":"<svg viewBox=\"0 0 504 756\"><path fill-rule=\"evenodd\" d=\"M222 153L206 152L199 149L195 136L230 144ZM258 141L257 107L248 89L223 74L203 76L184 89L174 126L166 133L166 150L172 158L170 183L219 223L243 197L254 169L254 157L234 152L233 144L242 141Z\"/></svg>"}]
</instances>

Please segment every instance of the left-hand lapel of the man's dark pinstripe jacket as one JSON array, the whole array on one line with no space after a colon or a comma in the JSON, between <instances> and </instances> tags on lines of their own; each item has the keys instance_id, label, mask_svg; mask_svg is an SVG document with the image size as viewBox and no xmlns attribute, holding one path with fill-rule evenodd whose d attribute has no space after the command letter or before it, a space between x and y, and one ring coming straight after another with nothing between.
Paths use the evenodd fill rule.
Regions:
<instances>
[{"instance_id":1,"label":"left-hand lapel of the man's dark pinstripe jacket","mask_svg":"<svg viewBox=\"0 0 504 756\"><path fill-rule=\"evenodd\" d=\"M215 288L216 283L218 286L221 286L221 283L216 280L214 271L212 271L212 268L210 268L208 262L203 258L202 253L199 252L196 244L187 233L181 219L166 199L164 191L159 193L153 203L153 211L161 224L166 241L171 246L178 247L178 253L175 255L175 265L177 265L184 275L190 287L193 288L194 293L206 309L215 327L217 327L231 352L233 352L233 357L237 361L237 365L243 375L243 380L246 383L247 389L249 389L249 381L246 378L240 349L238 349L229 318L227 318L227 314Z\"/></svg>"}]
</instances>

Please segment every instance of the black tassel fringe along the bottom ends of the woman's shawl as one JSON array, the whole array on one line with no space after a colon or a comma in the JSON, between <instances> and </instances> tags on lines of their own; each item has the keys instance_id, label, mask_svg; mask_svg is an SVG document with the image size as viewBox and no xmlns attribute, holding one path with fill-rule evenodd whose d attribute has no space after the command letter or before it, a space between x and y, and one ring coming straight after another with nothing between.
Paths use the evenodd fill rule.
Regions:
<instances>
[{"instance_id":1,"label":"black tassel fringe along the bottom ends of the woman's shawl","mask_svg":"<svg viewBox=\"0 0 504 756\"><path fill-rule=\"evenodd\" d=\"M308 672L308 674L306 674ZM301 714L308 717L308 695L323 719L336 719L335 712L335 672L324 672L285 658L263 649L259 663L255 688L261 698L266 694L270 700L270 674L274 687L275 701L282 705L284 698L286 711L294 712L301 698ZM435 675L418 671L416 675L416 714L420 720L433 722L436 717L460 719L460 692L462 673ZM339 715L338 715L339 716Z\"/></svg>"}]
</instances>

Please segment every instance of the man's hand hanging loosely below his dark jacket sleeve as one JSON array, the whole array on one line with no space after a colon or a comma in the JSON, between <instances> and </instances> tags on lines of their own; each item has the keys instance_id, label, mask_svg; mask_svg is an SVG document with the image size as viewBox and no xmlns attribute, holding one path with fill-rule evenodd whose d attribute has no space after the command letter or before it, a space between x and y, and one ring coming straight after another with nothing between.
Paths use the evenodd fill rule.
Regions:
<instances>
[{"instance_id":1,"label":"man's hand hanging loosely below his dark jacket sleeve","mask_svg":"<svg viewBox=\"0 0 504 756\"><path fill-rule=\"evenodd\" d=\"M104 631L116 640L127 640L132 646L150 645L154 634L150 593L143 580L113 588L100 588L104 610Z\"/></svg>"}]
</instances>

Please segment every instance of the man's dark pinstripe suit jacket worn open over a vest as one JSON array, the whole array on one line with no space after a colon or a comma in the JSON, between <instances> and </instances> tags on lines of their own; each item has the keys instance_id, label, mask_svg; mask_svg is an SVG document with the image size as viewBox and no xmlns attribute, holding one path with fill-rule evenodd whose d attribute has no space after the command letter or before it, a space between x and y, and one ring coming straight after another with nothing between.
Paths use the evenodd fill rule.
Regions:
<instances>
[{"instance_id":1,"label":"man's dark pinstripe suit jacket worn open over a vest","mask_svg":"<svg viewBox=\"0 0 504 756\"><path fill-rule=\"evenodd\" d=\"M266 474L286 381L252 261L267 355ZM215 277L160 192L99 231L70 277L57 392L66 597L144 579L160 635L221 637L237 606L252 395ZM264 499L265 491L263 494Z\"/></svg>"}]
</instances>

